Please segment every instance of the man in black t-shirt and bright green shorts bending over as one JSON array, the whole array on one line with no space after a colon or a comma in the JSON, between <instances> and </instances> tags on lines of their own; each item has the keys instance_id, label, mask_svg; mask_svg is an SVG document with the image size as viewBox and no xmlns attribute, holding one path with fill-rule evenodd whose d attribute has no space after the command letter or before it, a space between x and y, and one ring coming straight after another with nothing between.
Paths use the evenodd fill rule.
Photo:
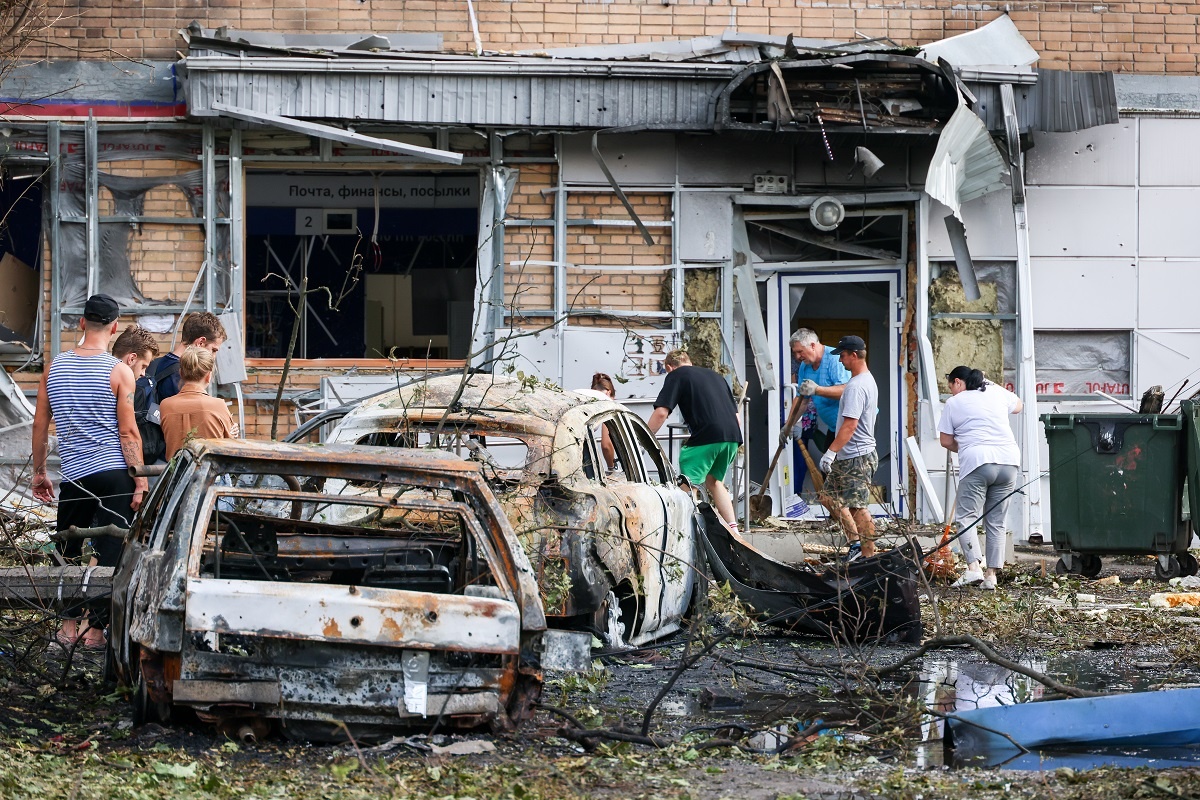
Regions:
<instances>
[{"instance_id":1,"label":"man in black t-shirt and bright green shorts bending over","mask_svg":"<svg viewBox=\"0 0 1200 800\"><path fill-rule=\"evenodd\" d=\"M716 513L737 531L733 500L725 488L725 474L738 455L742 444L742 423L733 392L718 373L704 367L694 367L686 350L672 350L664 359L667 377L662 391L654 401L649 427L659 432L671 410L679 407L691 435L679 450L679 471L692 482L708 491Z\"/></svg>"}]
</instances>

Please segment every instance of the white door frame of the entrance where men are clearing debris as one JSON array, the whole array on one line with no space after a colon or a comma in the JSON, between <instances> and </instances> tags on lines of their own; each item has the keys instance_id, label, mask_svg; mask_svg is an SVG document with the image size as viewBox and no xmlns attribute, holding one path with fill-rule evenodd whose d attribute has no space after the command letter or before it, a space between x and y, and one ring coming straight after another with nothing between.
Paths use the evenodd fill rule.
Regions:
<instances>
[{"instance_id":1,"label":"white door frame of the entrance where men are clearing debris","mask_svg":"<svg viewBox=\"0 0 1200 800\"><path fill-rule=\"evenodd\" d=\"M890 507L883 505L872 504L870 507L871 515L876 517L889 517L893 512L904 517L907 513L907 506L905 504L906 492L905 483L907 471L902 469L904 467L904 432L905 432L905 409L907 407L907 392L904 391L904 361L901 359L901 337L904 336L904 313L905 313L905 281L904 281L904 264L895 264L888 266L871 266L871 267L847 267L845 264L838 264L833 261L794 261L794 263L779 263L770 265L770 272L767 275L767 332L770 341L779 348L779 363L780 371L780 386L784 390L768 392L767 408L770 409L768 413L767 427L770 433L767 441L772 443L772 451L774 452L774 443L779 438L779 431L782 428L784 419L787 415L787 404L790 403L790 396L786 386L792 383L792 354L788 347L788 337L791 336L791 319L787 314L788 297L791 295L791 288L793 285L806 285L814 283L875 283L882 282L888 285L888 297L890 299L890 335L888 336L888 349L887 349L887 363L892 365L888 371L888 386L890 390L892 403L890 408L886 409L888 415L888 425L892 431L892 486L889 487L892 495ZM760 270L760 275L762 270ZM878 349L872 349L871 353L875 354L874 357L878 356ZM871 355L868 355L871 359ZM884 409L881 409L883 413ZM774 507L780 510L780 513L786 509L786 503L794 499L792 493L792 475L794 474L794 465L792 459L794 457L794 449L788 447L784 452L784 457L780 458L779 465L775 468L775 474L772 476L769 492L774 500ZM785 480L786 479L786 480ZM824 518L827 515L826 510L818 504L810 504L811 507L804 518L808 519L820 519Z\"/></svg>"}]
</instances>

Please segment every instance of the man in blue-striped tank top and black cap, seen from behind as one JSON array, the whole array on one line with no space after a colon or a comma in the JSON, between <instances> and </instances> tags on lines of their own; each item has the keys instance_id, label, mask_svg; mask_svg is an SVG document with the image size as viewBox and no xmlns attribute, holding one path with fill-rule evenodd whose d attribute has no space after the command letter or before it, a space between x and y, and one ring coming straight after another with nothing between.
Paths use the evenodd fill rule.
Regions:
<instances>
[{"instance_id":1,"label":"man in blue-striped tank top and black cap, seen from behind","mask_svg":"<svg viewBox=\"0 0 1200 800\"><path fill-rule=\"evenodd\" d=\"M120 308L104 294L84 305L83 341L55 356L42 374L34 411L34 497L54 501L54 485L46 474L50 419L54 419L62 459L58 530L113 523L128 528L142 505L146 479L131 477L142 465L142 437L133 414L133 371L108 354ZM116 566L118 539L92 542L101 566ZM60 542L65 558L78 558L79 541ZM73 642L78 624L67 619L60 640ZM103 639L100 639L101 642Z\"/></svg>"}]
</instances>

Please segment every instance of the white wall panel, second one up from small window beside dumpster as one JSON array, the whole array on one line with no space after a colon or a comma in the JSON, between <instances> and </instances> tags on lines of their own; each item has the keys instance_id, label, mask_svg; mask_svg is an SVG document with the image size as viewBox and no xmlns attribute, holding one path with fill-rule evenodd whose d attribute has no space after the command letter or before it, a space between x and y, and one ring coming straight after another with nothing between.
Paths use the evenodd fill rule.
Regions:
<instances>
[{"instance_id":1,"label":"white wall panel, second one up from small window beside dumpster","mask_svg":"<svg viewBox=\"0 0 1200 800\"><path fill-rule=\"evenodd\" d=\"M1111 258L1136 252L1135 190L1031 186L1028 197L1034 255Z\"/></svg>"}]
</instances>

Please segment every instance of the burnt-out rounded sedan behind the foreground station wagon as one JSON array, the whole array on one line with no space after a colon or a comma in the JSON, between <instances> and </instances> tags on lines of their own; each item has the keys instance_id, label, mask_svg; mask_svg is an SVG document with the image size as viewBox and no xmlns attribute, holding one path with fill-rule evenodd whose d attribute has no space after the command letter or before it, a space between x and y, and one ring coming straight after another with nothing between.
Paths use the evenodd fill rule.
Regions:
<instances>
[{"instance_id":1,"label":"burnt-out rounded sedan behind the foreground station wagon","mask_svg":"<svg viewBox=\"0 0 1200 800\"><path fill-rule=\"evenodd\" d=\"M329 440L476 462L538 573L552 626L594 631L612 646L680 627L698 585L700 518L649 428L619 403L528 378L432 378L364 402Z\"/></svg>"}]
</instances>

